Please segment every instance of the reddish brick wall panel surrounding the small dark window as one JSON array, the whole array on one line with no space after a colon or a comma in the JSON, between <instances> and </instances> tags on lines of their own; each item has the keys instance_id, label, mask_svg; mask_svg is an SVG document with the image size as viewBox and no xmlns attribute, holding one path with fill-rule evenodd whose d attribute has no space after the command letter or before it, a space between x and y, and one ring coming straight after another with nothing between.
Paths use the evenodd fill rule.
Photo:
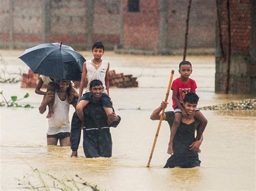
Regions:
<instances>
[{"instance_id":1,"label":"reddish brick wall panel surrounding the small dark window","mask_svg":"<svg viewBox=\"0 0 256 191\"><path fill-rule=\"evenodd\" d=\"M156 49L159 36L157 0L140 0L139 12L129 12L124 0L124 46Z\"/></svg>"}]
</instances>

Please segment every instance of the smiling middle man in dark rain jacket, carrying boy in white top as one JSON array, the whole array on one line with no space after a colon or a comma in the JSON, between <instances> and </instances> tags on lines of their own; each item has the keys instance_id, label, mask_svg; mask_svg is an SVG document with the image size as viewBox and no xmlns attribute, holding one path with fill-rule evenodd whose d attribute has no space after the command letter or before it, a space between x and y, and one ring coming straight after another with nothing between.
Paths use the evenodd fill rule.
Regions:
<instances>
[{"instance_id":1,"label":"smiling middle man in dark rain jacket, carrying boy in white top","mask_svg":"<svg viewBox=\"0 0 256 191\"><path fill-rule=\"evenodd\" d=\"M111 157L112 139L110 127L117 127L121 118L115 113L106 115L101 103L104 87L102 81L92 80L92 99L84 107L83 148L86 158ZM71 121L71 156L77 156L80 142L81 122L75 112Z\"/></svg>"}]
</instances>

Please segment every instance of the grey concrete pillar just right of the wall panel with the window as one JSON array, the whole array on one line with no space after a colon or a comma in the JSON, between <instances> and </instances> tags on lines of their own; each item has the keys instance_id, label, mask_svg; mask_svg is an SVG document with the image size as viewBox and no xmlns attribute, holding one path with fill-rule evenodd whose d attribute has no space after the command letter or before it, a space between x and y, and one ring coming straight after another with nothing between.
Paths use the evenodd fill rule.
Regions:
<instances>
[{"instance_id":1,"label":"grey concrete pillar just right of the wall panel with the window","mask_svg":"<svg viewBox=\"0 0 256 191\"><path fill-rule=\"evenodd\" d=\"M159 46L158 52L160 54L167 53L167 33L168 33L168 21L167 21L167 0L159 1Z\"/></svg>"}]
</instances>

